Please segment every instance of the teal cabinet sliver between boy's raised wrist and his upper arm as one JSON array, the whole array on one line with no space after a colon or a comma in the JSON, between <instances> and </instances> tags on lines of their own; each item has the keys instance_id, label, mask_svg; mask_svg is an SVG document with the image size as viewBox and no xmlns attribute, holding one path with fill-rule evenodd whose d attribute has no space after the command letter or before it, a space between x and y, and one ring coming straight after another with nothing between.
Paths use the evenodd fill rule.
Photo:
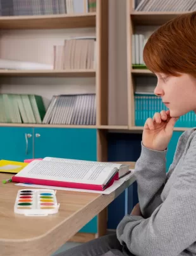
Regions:
<instances>
[{"instance_id":1,"label":"teal cabinet sliver between boy's raised wrist and his upper arm","mask_svg":"<svg viewBox=\"0 0 196 256\"><path fill-rule=\"evenodd\" d=\"M166 163L166 171L168 172L169 166L173 162L173 158L175 156L176 146L178 144L178 139L180 138L183 131L174 131L173 136L171 137L171 140L168 145L168 152L166 155L167 163Z\"/></svg>"}]
</instances>

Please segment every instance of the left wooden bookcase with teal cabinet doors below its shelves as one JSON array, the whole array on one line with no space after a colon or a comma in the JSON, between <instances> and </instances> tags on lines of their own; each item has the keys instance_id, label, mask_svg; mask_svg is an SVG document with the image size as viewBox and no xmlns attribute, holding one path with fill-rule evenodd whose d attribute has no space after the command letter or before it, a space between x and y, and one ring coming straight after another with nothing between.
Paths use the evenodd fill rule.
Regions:
<instances>
[{"instance_id":1,"label":"left wooden bookcase with teal cabinet doors below its shelves","mask_svg":"<svg viewBox=\"0 0 196 256\"><path fill-rule=\"evenodd\" d=\"M0 70L0 93L35 93L46 98L47 105L55 94L95 93L97 103L95 125L0 123L3 137L11 138L11 143L18 147L13 153L4 150L1 158L22 161L51 154L54 157L107 161L107 129L128 128L107 125L108 5L108 0L99 0L95 13L80 15L0 17L3 59L39 63L44 52L45 63L51 64L51 55L47 56L47 50L52 49L52 44L62 43L67 33L70 37L95 36L97 61L95 69ZM27 133L32 136L25 142L24 135ZM65 149L66 145L71 145L71 149ZM27 147L28 154L25 154ZM71 240L88 241L106 234L106 227L107 209L104 209Z\"/></svg>"}]
</instances>

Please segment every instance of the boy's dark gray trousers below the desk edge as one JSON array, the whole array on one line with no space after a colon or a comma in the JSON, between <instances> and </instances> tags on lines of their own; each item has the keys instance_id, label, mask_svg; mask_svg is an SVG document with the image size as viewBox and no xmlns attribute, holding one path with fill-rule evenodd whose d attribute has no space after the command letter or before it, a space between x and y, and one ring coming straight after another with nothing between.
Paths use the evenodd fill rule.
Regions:
<instances>
[{"instance_id":1,"label":"boy's dark gray trousers below the desk edge","mask_svg":"<svg viewBox=\"0 0 196 256\"><path fill-rule=\"evenodd\" d=\"M116 234L109 234L93 239L83 245L70 248L65 252L56 254L55 256L134 256L128 251L126 246L122 246Z\"/></svg>"}]
</instances>

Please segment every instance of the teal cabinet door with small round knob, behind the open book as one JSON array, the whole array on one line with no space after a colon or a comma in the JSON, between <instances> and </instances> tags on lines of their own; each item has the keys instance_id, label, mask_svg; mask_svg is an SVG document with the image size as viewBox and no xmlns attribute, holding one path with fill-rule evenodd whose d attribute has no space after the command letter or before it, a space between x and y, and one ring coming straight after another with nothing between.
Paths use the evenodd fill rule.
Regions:
<instances>
[{"instance_id":1,"label":"teal cabinet door with small round knob, behind the open book","mask_svg":"<svg viewBox=\"0 0 196 256\"><path fill-rule=\"evenodd\" d=\"M34 156L97 161L97 130L83 128L34 128ZM80 232L97 233L97 217Z\"/></svg>"}]
</instances>

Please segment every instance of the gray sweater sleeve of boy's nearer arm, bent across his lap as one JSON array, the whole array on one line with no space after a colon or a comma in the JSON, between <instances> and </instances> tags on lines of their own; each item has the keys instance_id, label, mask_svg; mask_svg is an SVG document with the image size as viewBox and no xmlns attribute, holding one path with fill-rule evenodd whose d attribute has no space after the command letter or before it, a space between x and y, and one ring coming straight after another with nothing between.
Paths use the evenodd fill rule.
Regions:
<instances>
[{"instance_id":1,"label":"gray sweater sleeve of boy's nearer arm, bent across his lap","mask_svg":"<svg viewBox=\"0 0 196 256\"><path fill-rule=\"evenodd\" d=\"M177 256L196 241L196 142L190 145L175 183L152 215L126 215L117 227L121 244L137 256Z\"/></svg>"}]
</instances>

